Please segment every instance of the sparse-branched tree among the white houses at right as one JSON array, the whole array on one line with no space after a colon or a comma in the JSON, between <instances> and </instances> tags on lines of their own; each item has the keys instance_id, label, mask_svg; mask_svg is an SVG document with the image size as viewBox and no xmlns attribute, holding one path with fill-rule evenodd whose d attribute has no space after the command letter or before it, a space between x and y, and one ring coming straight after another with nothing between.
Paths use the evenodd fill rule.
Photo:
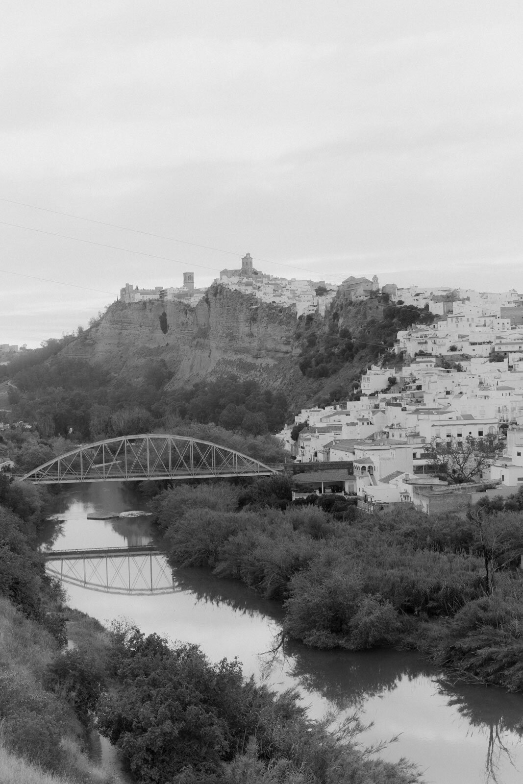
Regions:
<instances>
[{"instance_id":1,"label":"sparse-branched tree among the white houses at right","mask_svg":"<svg viewBox=\"0 0 523 784\"><path fill-rule=\"evenodd\" d=\"M437 441L433 438L426 452L438 474L443 474L449 481L459 485L478 477L496 457L497 448L499 444L496 437L467 436L463 440L449 438Z\"/></svg>"}]
</instances>

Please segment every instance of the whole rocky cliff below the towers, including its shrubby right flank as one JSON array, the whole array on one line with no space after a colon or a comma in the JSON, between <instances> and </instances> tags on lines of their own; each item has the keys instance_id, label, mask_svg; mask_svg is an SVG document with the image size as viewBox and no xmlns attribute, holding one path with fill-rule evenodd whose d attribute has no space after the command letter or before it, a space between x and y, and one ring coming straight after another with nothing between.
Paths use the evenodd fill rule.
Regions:
<instances>
[{"instance_id":1,"label":"whole rocky cliff below the towers, including its shrubby right flank","mask_svg":"<svg viewBox=\"0 0 523 784\"><path fill-rule=\"evenodd\" d=\"M292 408L343 400L361 372L387 353L404 322L433 318L386 300L335 299L325 318L213 285L194 307L178 302L114 303L100 324L62 354L99 362L140 382L151 361L173 373L169 388L234 373L282 391Z\"/></svg>"}]
</instances>

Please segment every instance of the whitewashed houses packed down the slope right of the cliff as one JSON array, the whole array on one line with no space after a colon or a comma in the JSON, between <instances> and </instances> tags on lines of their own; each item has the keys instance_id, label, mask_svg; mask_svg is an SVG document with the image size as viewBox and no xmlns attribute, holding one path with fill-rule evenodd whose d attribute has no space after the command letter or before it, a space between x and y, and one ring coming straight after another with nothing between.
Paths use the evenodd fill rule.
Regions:
<instances>
[{"instance_id":1,"label":"whitewashed houses packed down the slope right of the cliff","mask_svg":"<svg viewBox=\"0 0 523 784\"><path fill-rule=\"evenodd\" d=\"M523 485L521 295L395 285L384 286L383 295L398 306L429 310L434 323L399 331L396 360L371 365L350 400L304 408L283 430L297 461L354 466L350 480L346 470L303 474L302 495L318 492L320 483L321 492L338 489L343 479L361 510L408 503L429 512L464 510L483 496L517 492Z\"/></svg>"}]
</instances>

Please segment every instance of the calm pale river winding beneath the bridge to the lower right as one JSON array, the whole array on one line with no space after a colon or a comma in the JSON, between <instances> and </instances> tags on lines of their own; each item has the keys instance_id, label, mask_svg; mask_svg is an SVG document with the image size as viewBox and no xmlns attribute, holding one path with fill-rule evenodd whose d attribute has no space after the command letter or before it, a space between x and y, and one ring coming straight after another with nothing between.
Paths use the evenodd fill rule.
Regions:
<instances>
[{"instance_id":1,"label":"calm pale river winding beneath the bridge to the lower right","mask_svg":"<svg viewBox=\"0 0 523 784\"><path fill-rule=\"evenodd\" d=\"M147 517L87 520L88 512L146 508L143 499L120 485L84 486L65 492L62 501L64 522L49 524L45 549L141 546L156 535ZM166 570L167 583L165 575L162 583L162 568L150 565L138 558L109 566L96 561L93 582L100 586L100 579L107 578L135 590L172 585L171 593L122 595L67 584L71 606L101 622L125 618L145 633L196 642L213 661L238 656L246 676L266 678L274 688L296 686L312 717L357 710L364 724L372 724L361 734L361 743L369 746L398 736L381 756L408 757L426 782L523 781L523 697L455 684L413 653L321 652L292 644L274 658L266 652L280 629L278 603L202 569ZM74 568L82 571L78 564ZM88 561L81 576L89 579L89 568Z\"/></svg>"}]
</instances>

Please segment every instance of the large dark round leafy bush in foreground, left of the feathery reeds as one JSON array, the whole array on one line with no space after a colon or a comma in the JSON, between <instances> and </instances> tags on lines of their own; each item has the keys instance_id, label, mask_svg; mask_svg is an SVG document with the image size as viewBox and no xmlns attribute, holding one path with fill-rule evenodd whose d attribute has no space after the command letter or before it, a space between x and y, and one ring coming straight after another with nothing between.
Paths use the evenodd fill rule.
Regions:
<instances>
[{"instance_id":1,"label":"large dark round leafy bush in foreground, left of the feathery reeds","mask_svg":"<svg viewBox=\"0 0 523 784\"><path fill-rule=\"evenodd\" d=\"M252 684L237 659L211 664L197 645L170 648L136 628L115 635L117 685L97 708L100 733L143 784L174 781L191 766L212 780L252 732Z\"/></svg>"}]
</instances>

